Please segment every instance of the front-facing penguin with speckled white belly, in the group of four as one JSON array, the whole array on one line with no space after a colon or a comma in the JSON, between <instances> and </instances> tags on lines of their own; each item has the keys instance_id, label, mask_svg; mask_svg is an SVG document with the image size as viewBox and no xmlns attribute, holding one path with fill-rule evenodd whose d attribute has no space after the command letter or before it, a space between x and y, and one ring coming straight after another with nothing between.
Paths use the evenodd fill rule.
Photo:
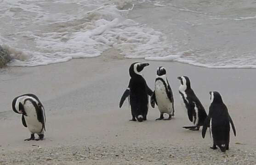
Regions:
<instances>
[{"instance_id":1,"label":"front-facing penguin with speckled white belly, in the group of four","mask_svg":"<svg viewBox=\"0 0 256 165\"><path fill-rule=\"evenodd\" d=\"M164 113L169 115L168 119L174 115L174 99L171 91L171 86L166 77L166 70L163 66L159 66L156 71L155 90L150 98L151 106L154 108L158 105L160 117L156 120L163 120Z\"/></svg>"}]
</instances>

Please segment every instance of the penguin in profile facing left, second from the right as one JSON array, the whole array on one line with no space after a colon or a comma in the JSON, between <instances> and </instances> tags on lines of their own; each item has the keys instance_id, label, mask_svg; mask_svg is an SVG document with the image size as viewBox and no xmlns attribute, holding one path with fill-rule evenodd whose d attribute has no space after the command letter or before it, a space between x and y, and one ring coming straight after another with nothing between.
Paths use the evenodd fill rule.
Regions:
<instances>
[{"instance_id":1,"label":"penguin in profile facing left, second from the right","mask_svg":"<svg viewBox=\"0 0 256 165\"><path fill-rule=\"evenodd\" d=\"M200 126L204 125L207 114L204 106L196 97L193 89L190 86L190 80L187 76L178 77L181 82L179 93L181 96L182 105L188 113L188 119L193 122L194 126L183 126L183 128L198 131Z\"/></svg>"}]
</instances>

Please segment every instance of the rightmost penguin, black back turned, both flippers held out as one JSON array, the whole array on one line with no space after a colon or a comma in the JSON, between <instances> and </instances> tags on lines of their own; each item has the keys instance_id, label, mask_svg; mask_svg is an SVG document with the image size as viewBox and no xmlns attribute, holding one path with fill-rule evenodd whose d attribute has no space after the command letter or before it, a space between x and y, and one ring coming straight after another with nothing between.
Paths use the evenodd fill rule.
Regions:
<instances>
[{"instance_id":1,"label":"rightmost penguin, black back turned, both flippers held out","mask_svg":"<svg viewBox=\"0 0 256 165\"><path fill-rule=\"evenodd\" d=\"M222 96L218 92L210 93L209 115L205 119L202 130L202 137L205 138L207 127L210 126L210 133L213 138L212 149L217 149L218 146L222 152L229 149L229 132L230 125L232 126L234 136L236 130L231 116L228 114L228 108L222 101Z\"/></svg>"}]
</instances>

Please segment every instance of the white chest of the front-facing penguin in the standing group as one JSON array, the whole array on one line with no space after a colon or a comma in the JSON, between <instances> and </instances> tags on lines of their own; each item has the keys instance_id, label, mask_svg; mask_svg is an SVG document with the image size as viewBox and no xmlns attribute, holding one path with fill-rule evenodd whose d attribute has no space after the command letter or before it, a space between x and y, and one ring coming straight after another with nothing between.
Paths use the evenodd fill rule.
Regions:
<instances>
[{"instance_id":1,"label":"white chest of the front-facing penguin in the standing group","mask_svg":"<svg viewBox=\"0 0 256 165\"><path fill-rule=\"evenodd\" d=\"M172 103L166 93L165 84L158 80L155 82L155 97L158 109L161 113L172 113Z\"/></svg>"}]
</instances>

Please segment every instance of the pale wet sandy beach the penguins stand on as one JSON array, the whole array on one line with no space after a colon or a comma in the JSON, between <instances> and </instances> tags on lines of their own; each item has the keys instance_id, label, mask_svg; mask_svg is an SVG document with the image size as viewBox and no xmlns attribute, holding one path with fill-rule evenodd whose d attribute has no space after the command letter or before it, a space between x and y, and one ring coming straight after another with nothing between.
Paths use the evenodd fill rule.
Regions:
<instances>
[{"instance_id":1,"label":"pale wet sandy beach the penguins stand on","mask_svg":"<svg viewBox=\"0 0 256 165\"><path fill-rule=\"evenodd\" d=\"M156 68L167 70L175 99L175 117L155 121L157 108L149 108L148 121L129 121L128 101L119 99L128 85L128 68L141 59L123 59L114 49L101 57L71 60L37 67L0 70L1 165L255 165L256 78L253 69L207 69L176 62L147 61L143 71L154 89ZM180 104L178 76L190 77L191 86L208 113L209 91L219 91L232 116L237 136L230 132L226 154L211 150L209 133L191 125ZM43 141L25 142L28 129L11 101L23 93L36 94L46 109Z\"/></svg>"}]
</instances>

